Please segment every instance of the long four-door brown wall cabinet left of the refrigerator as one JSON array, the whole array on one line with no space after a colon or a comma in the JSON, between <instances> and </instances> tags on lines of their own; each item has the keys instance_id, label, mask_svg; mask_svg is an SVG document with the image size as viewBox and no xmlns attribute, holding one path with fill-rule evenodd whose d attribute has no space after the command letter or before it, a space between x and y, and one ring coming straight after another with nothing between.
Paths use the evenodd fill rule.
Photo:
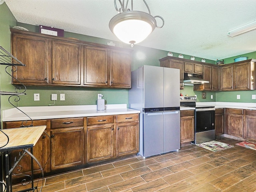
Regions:
<instances>
[{"instance_id":1,"label":"long four-door brown wall cabinet left of the refrigerator","mask_svg":"<svg viewBox=\"0 0 256 192\"><path fill-rule=\"evenodd\" d=\"M16 29L11 32L12 53L26 65L13 69L13 84L131 87L130 50Z\"/></svg>"}]
</instances>

